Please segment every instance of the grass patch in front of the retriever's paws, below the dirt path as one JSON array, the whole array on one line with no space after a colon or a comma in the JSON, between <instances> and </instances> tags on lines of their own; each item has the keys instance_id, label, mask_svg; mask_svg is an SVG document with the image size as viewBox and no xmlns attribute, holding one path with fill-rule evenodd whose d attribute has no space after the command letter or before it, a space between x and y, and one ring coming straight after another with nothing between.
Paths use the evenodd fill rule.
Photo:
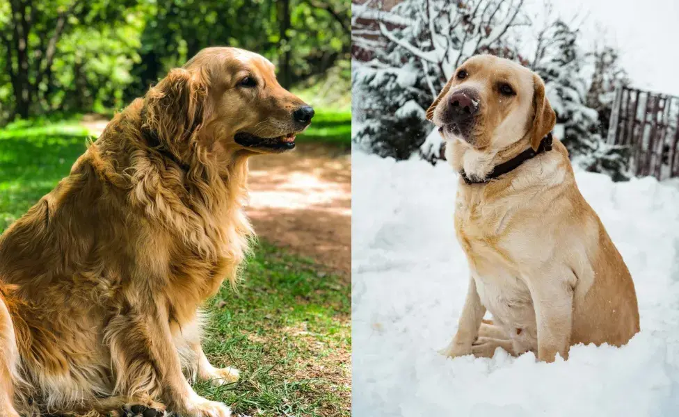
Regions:
<instances>
[{"instance_id":1,"label":"grass patch in front of the retriever's paws, below the dirt path","mask_svg":"<svg viewBox=\"0 0 679 417\"><path fill-rule=\"evenodd\" d=\"M349 416L349 284L260 243L239 291L223 288L205 342L235 384L197 391L249 416Z\"/></svg>"}]
</instances>

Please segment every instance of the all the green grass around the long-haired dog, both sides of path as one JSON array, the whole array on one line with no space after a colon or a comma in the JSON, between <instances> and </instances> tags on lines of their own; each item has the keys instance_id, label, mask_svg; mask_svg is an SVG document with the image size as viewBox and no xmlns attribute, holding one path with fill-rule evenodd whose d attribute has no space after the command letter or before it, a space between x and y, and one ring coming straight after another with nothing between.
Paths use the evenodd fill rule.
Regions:
<instances>
[{"instance_id":1,"label":"all the green grass around the long-haired dog, both sides of path","mask_svg":"<svg viewBox=\"0 0 679 417\"><path fill-rule=\"evenodd\" d=\"M326 124L304 140L342 134L346 115L320 115ZM87 134L76 121L47 119L0 130L0 231L68 174ZM218 388L199 383L196 391L230 405L234 416L348 417L349 286L259 243L239 290L225 287L209 303L205 352L214 366L239 368L241 379Z\"/></svg>"}]
</instances>

